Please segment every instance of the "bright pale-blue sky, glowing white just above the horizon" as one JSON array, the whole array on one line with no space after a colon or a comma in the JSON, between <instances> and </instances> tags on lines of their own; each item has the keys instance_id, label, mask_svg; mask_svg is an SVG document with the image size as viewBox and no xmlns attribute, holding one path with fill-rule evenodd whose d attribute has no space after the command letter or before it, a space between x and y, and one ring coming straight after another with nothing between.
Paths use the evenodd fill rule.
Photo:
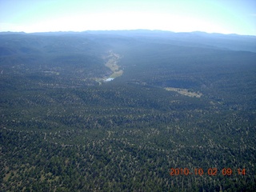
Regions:
<instances>
[{"instance_id":1,"label":"bright pale-blue sky, glowing white just above the horizon","mask_svg":"<svg viewBox=\"0 0 256 192\"><path fill-rule=\"evenodd\" d=\"M136 29L256 35L256 1L0 0L0 31Z\"/></svg>"}]
</instances>

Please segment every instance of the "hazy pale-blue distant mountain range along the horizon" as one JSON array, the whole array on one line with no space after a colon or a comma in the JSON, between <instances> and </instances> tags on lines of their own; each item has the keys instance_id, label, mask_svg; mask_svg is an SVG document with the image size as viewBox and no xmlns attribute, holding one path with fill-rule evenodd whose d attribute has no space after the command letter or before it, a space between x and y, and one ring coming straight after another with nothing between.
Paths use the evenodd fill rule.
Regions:
<instances>
[{"instance_id":1,"label":"hazy pale-blue distant mountain range along the horizon","mask_svg":"<svg viewBox=\"0 0 256 192\"><path fill-rule=\"evenodd\" d=\"M24 32L0 32L1 34L26 34ZM166 43L184 46L202 46L222 48L228 50L246 50L256 52L256 36L238 34L208 34L206 32L180 32L174 33L164 30L88 30L83 32L43 32L31 33L33 35L118 35L126 38L157 38Z\"/></svg>"}]
</instances>

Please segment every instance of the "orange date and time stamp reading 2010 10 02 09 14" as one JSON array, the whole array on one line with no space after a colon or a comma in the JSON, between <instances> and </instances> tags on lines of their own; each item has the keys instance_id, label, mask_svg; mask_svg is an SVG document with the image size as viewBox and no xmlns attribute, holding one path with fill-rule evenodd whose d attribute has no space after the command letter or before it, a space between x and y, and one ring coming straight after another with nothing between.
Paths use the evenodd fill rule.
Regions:
<instances>
[{"instance_id":1,"label":"orange date and time stamp reading 2010 10 02 09 14","mask_svg":"<svg viewBox=\"0 0 256 192\"><path fill-rule=\"evenodd\" d=\"M170 168L170 175L171 176L177 176L177 175L210 175L210 176L216 176L217 174L222 174L223 176L230 176L232 174L240 174L245 175L246 169L237 169L232 170L231 168L223 168L222 170L218 171L217 168L209 168L208 170L203 170L202 168L194 168L194 170L190 171L188 168Z\"/></svg>"}]
</instances>

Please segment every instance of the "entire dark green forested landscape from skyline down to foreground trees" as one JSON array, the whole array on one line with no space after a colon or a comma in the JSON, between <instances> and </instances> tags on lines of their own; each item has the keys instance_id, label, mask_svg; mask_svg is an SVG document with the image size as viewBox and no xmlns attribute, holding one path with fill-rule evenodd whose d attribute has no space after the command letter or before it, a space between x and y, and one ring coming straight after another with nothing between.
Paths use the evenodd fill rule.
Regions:
<instances>
[{"instance_id":1,"label":"entire dark green forested landscape from skyline down to foreground trees","mask_svg":"<svg viewBox=\"0 0 256 192\"><path fill-rule=\"evenodd\" d=\"M0 33L0 191L255 191L256 37Z\"/></svg>"}]
</instances>

